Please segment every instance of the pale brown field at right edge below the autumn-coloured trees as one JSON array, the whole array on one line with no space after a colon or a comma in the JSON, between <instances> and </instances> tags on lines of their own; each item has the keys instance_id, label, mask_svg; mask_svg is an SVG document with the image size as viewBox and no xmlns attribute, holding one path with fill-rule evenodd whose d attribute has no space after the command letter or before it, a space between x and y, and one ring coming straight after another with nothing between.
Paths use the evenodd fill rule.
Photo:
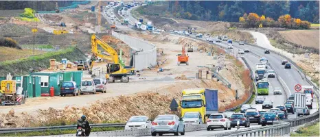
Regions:
<instances>
[{"instance_id":1,"label":"pale brown field at right edge below the autumn-coloured trees","mask_svg":"<svg viewBox=\"0 0 320 137\"><path fill-rule=\"evenodd\" d=\"M291 42L304 47L313 47L319 49L319 29L310 30L288 30L279 31L279 33Z\"/></svg>"}]
</instances>

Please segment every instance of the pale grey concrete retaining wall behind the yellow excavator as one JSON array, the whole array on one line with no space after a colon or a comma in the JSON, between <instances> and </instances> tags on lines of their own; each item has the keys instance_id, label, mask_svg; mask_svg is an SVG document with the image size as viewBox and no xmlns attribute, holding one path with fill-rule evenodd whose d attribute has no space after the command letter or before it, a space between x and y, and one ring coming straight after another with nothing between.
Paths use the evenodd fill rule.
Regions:
<instances>
[{"instance_id":1,"label":"pale grey concrete retaining wall behind the yellow excavator","mask_svg":"<svg viewBox=\"0 0 320 137\"><path fill-rule=\"evenodd\" d=\"M157 64L157 47L152 43L117 32L112 32L112 36L122 40L135 51L133 53L133 66L137 71L153 68Z\"/></svg>"}]
</instances>

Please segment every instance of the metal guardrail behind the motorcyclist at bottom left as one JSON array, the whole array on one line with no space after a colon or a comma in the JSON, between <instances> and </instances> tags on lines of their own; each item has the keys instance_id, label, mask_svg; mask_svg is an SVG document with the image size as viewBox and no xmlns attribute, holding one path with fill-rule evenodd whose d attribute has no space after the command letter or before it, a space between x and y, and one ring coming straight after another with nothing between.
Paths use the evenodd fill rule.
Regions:
<instances>
[{"instance_id":1,"label":"metal guardrail behind the motorcyclist at bottom left","mask_svg":"<svg viewBox=\"0 0 320 137\"><path fill-rule=\"evenodd\" d=\"M102 123L102 124L91 124L92 127L124 127L126 123ZM19 132L39 132L55 129L76 129L77 125L61 125L52 127L21 127L21 128L1 128L0 134L3 133L19 133Z\"/></svg>"}]
</instances>

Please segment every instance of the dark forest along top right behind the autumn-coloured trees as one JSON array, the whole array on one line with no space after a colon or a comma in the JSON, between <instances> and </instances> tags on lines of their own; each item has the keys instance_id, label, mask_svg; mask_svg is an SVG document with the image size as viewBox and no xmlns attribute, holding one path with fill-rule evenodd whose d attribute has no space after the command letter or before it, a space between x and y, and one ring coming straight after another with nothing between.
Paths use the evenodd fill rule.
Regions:
<instances>
[{"instance_id":1,"label":"dark forest along top right behind the autumn-coloured trees","mask_svg":"<svg viewBox=\"0 0 320 137\"><path fill-rule=\"evenodd\" d=\"M319 1L165 1L165 15L201 21L238 22L244 14L256 13L273 20L292 18L319 23ZM165 3L159 1L159 3Z\"/></svg>"}]
</instances>

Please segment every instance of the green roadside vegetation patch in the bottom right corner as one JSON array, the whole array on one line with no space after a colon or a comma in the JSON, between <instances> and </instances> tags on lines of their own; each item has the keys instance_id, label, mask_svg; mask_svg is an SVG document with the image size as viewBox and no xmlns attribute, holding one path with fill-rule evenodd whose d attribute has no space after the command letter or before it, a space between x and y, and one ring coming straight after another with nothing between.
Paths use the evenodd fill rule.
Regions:
<instances>
[{"instance_id":1,"label":"green roadside vegetation patch in the bottom right corner","mask_svg":"<svg viewBox=\"0 0 320 137\"><path fill-rule=\"evenodd\" d=\"M300 127L296 132L291 133L290 136L319 136L319 122L308 127Z\"/></svg>"}]
</instances>

